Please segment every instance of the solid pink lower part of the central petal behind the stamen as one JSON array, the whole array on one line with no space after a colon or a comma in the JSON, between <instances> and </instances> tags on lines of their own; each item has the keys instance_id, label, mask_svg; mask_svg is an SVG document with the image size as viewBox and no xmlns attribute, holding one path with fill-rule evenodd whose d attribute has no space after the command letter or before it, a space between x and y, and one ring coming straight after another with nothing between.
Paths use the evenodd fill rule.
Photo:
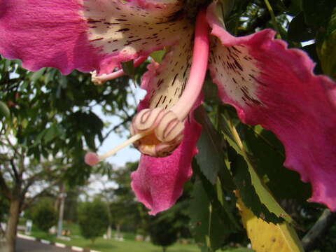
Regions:
<instances>
[{"instance_id":1,"label":"solid pink lower part of the central petal behind the stamen","mask_svg":"<svg viewBox=\"0 0 336 252\"><path fill-rule=\"evenodd\" d=\"M200 103L199 100L194 108ZM192 174L191 160L197 154L196 142L201 130L190 113L183 141L172 155L165 158L141 155L139 167L131 175L131 186L139 202L151 209L149 214L155 215L169 209L182 195L183 183Z\"/></svg>"}]
</instances>

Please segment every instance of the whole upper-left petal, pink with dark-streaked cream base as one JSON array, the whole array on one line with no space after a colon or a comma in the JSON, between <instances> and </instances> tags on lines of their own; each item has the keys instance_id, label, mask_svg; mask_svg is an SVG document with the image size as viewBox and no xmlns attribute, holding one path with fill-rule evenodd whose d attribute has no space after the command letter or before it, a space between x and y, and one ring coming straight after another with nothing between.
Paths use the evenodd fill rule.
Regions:
<instances>
[{"instance_id":1,"label":"whole upper-left petal, pink with dark-streaked cream base","mask_svg":"<svg viewBox=\"0 0 336 252\"><path fill-rule=\"evenodd\" d=\"M151 12L143 6L137 1L0 1L0 54L22 59L32 71L52 66L64 74L73 69L110 73L122 61L171 45L188 27L188 20L172 18L181 6L169 3Z\"/></svg>"}]
</instances>

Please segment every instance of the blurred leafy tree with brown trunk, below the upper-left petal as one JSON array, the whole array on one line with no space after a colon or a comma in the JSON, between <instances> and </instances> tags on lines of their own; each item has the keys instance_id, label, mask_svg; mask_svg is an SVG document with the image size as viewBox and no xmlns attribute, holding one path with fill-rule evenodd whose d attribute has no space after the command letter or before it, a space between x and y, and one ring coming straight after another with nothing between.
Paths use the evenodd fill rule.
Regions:
<instances>
[{"instance_id":1,"label":"blurred leafy tree with brown trunk, below the upper-left petal","mask_svg":"<svg viewBox=\"0 0 336 252\"><path fill-rule=\"evenodd\" d=\"M96 140L111 133L103 136L104 122L93 109L116 113L127 107L126 85L127 77L95 86L90 74L78 71L69 76L56 69L31 73L20 62L1 58L0 192L10 202L5 251L15 251L18 216L31 202L61 180L75 186L90 176L85 148L96 150ZM114 130L132 118L127 110L119 116ZM38 183L41 190L27 200Z\"/></svg>"}]
</instances>

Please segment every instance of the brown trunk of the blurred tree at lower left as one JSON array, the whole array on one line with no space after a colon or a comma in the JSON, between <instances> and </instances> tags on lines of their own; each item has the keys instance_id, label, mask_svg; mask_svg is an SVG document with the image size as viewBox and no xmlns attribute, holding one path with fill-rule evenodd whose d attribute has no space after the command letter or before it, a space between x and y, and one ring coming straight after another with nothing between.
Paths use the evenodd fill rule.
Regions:
<instances>
[{"instance_id":1,"label":"brown trunk of the blurred tree at lower left","mask_svg":"<svg viewBox=\"0 0 336 252\"><path fill-rule=\"evenodd\" d=\"M10 201L9 217L7 221L3 252L15 252L16 230L18 227L19 214L20 200L18 198L12 199Z\"/></svg>"}]
</instances>

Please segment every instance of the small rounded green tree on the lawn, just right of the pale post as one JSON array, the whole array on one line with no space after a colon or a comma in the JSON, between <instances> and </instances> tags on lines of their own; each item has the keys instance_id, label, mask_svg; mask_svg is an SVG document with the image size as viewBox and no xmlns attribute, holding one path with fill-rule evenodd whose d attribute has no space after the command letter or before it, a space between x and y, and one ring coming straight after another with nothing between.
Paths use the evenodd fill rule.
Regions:
<instances>
[{"instance_id":1,"label":"small rounded green tree on the lawn, just right of the pale post","mask_svg":"<svg viewBox=\"0 0 336 252\"><path fill-rule=\"evenodd\" d=\"M90 239L92 244L97 237L101 237L106 232L109 223L106 221L109 214L106 204L99 200L85 202L78 209L78 224L80 234L85 239Z\"/></svg>"}]
</instances>

